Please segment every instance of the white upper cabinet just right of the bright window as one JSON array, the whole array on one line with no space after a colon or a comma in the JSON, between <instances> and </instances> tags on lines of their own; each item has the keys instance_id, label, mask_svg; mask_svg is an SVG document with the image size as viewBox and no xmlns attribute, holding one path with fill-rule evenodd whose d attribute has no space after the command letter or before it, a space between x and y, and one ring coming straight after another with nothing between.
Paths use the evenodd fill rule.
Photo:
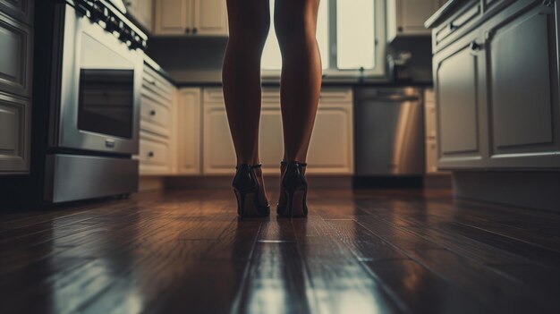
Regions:
<instances>
[{"instance_id":1,"label":"white upper cabinet just right of the bright window","mask_svg":"<svg viewBox=\"0 0 560 314\"><path fill-rule=\"evenodd\" d=\"M399 36L429 36L424 22L439 9L441 0L388 0L387 39Z\"/></svg>"}]
</instances>

